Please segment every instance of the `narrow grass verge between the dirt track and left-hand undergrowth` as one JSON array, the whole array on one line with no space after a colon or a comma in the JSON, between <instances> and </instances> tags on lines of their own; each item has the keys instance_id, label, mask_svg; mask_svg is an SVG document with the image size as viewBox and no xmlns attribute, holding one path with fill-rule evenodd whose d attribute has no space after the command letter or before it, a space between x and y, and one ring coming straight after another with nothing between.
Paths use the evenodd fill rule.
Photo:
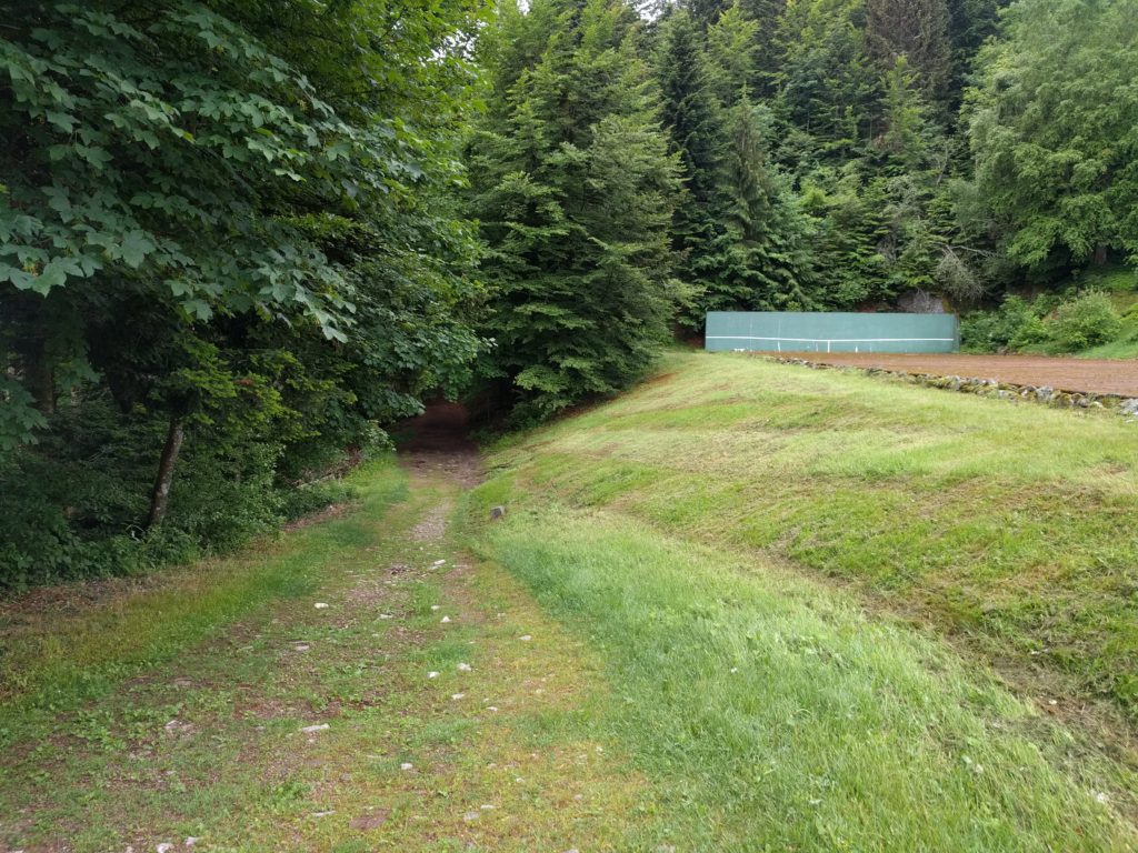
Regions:
<instances>
[{"instance_id":1,"label":"narrow grass verge between the dirt track and left-hand undergrowth","mask_svg":"<svg viewBox=\"0 0 1138 853\"><path fill-rule=\"evenodd\" d=\"M262 539L232 557L143 579L81 582L6 602L0 748L14 717L73 709L269 603L312 591L338 552L365 544L363 517L381 515L406 496L406 477L389 457L365 465L348 482L357 512L287 540Z\"/></svg>"}]
</instances>

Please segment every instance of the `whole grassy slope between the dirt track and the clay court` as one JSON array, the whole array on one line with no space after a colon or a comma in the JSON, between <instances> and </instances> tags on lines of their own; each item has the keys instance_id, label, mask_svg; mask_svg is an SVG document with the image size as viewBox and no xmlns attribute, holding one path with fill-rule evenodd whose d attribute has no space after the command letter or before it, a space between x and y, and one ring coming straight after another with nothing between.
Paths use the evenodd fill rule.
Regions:
<instances>
[{"instance_id":1,"label":"whole grassy slope between the dirt track and the clay court","mask_svg":"<svg viewBox=\"0 0 1138 853\"><path fill-rule=\"evenodd\" d=\"M745 357L667 367L502 452L475 506L512 507L485 553L602 649L605 724L674 786L679 836L1132 848L1095 797L1135 812L1133 426ZM801 568L1047 691L1013 698ZM1052 717L1098 697L1121 764Z\"/></svg>"}]
</instances>

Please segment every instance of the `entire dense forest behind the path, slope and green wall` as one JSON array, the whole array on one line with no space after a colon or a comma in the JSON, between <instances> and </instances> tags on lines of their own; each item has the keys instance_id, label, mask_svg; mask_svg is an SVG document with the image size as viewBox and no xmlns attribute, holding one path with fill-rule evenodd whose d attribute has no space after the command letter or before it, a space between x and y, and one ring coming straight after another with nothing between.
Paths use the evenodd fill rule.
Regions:
<instances>
[{"instance_id":1,"label":"entire dense forest behind the path, slope and green wall","mask_svg":"<svg viewBox=\"0 0 1138 853\"><path fill-rule=\"evenodd\" d=\"M0 588L231 548L709 309L1138 323L1136 0L0 11Z\"/></svg>"}]
</instances>

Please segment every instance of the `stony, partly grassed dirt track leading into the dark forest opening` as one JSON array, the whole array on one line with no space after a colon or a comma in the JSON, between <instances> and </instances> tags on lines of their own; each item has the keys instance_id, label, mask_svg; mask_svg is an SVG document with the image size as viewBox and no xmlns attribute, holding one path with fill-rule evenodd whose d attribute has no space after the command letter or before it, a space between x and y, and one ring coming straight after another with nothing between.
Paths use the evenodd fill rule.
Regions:
<instances>
[{"instance_id":1,"label":"stony, partly grassed dirt track leading into the dark forest opening","mask_svg":"<svg viewBox=\"0 0 1138 853\"><path fill-rule=\"evenodd\" d=\"M596 665L457 545L478 457L454 411L423 426L405 500L289 535L316 543L315 588L0 721L0 851L619 847L642 782L582 722Z\"/></svg>"}]
</instances>

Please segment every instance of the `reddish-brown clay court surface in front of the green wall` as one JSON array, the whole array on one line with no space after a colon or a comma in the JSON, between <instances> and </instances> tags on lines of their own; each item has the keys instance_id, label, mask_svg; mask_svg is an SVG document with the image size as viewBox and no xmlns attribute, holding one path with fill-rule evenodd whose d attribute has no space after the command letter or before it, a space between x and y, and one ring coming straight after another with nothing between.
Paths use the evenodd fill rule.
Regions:
<instances>
[{"instance_id":1,"label":"reddish-brown clay court surface in front of the green wall","mask_svg":"<svg viewBox=\"0 0 1138 853\"><path fill-rule=\"evenodd\" d=\"M783 353L818 364L884 367L907 373L935 373L995 379L1023 386L1050 386L1062 391L1091 391L1138 397L1138 359L1049 358L1046 356L900 355L868 353Z\"/></svg>"}]
</instances>

